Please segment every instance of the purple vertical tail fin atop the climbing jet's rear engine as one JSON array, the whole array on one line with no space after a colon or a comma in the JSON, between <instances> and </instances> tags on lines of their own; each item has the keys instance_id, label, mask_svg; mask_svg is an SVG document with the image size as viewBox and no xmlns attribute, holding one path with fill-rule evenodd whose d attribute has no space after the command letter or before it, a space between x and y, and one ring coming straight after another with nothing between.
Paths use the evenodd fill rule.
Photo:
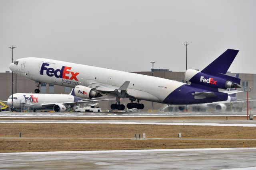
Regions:
<instances>
[{"instance_id":1,"label":"purple vertical tail fin atop the climbing jet's rear engine","mask_svg":"<svg viewBox=\"0 0 256 170\"><path fill-rule=\"evenodd\" d=\"M222 55L220 55L220 57L214 60L201 72L206 74L215 74L215 73L226 74L226 72L228 71L228 68L234 61L238 51L239 50L227 49Z\"/></svg>"}]
</instances>

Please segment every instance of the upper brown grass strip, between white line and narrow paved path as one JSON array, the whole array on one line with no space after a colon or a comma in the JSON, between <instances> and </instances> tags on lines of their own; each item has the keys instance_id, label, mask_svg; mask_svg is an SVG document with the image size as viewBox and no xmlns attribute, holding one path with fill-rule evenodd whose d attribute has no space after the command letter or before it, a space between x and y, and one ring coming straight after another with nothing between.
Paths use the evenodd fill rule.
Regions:
<instances>
[{"instance_id":1,"label":"upper brown grass strip, between white line and narrow paved path","mask_svg":"<svg viewBox=\"0 0 256 170\"><path fill-rule=\"evenodd\" d=\"M0 123L0 137L110 137L133 138L146 133L148 138L256 139L256 127L124 125L70 123Z\"/></svg>"}]
</instances>

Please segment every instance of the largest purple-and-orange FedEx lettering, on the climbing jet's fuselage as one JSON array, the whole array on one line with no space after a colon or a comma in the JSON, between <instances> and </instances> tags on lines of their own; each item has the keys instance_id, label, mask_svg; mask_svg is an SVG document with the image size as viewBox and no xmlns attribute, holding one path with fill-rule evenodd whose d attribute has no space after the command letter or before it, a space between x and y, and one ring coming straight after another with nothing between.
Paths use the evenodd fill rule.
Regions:
<instances>
[{"instance_id":1,"label":"largest purple-and-orange FedEx lettering, on the climbing jet's fuselage","mask_svg":"<svg viewBox=\"0 0 256 170\"><path fill-rule=\"evenodd\" d=\"M41 75L43 75L44 70L46 70L46 74L49 77L55 76L56 78L65 78L65 79L69 79L69 80L74 79L74 80L78 81L76 76L79 74L79 72L70 71L72 67L62 66L61 69L54 70L54 68L46 67L46 66L49 66L49 65L50 65L49 63L43 63L42 64L41 70L40 70ZM70 74L71 74L71 76L69 76Z\"/></svg>"}]
</instances>

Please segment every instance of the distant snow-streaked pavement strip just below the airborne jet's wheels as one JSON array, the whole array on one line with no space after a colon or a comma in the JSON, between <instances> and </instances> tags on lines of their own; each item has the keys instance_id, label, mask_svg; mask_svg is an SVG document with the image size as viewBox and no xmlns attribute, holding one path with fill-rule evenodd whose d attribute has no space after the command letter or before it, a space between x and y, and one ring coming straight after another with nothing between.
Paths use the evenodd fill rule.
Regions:
<instances>
[{"instance_id":1,"label":"distant snow-streaked pavement strip just below the airborne jet's wheels","mask_svg":"<svg viewBox=\"0 0 256 170\"><path fill-rule=\"evenodd\" d=\"M247 112L0 112L5 117L180 117L246 116Z\"/></svg>"}]
</instances>

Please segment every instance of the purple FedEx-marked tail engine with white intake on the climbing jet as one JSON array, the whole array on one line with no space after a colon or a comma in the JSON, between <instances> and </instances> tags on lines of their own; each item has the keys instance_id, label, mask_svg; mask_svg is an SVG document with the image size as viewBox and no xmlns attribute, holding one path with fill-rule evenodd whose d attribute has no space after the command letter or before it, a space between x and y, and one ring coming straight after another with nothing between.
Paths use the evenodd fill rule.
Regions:
<instances>
[{"instance_id":1,"label":"purple FedEx-marked tail engine with white intake on the climbing jet","mask_svg":"<svg viewBox=\"0 0 256 170\"><path fill-rule=\"evenodd\" d=\"M194 84L209 86L211 88L239 88L240 78L216 73L216 75L205 74L197 70L186 70L185 80Z\"/></svg>"}]
</instances>

